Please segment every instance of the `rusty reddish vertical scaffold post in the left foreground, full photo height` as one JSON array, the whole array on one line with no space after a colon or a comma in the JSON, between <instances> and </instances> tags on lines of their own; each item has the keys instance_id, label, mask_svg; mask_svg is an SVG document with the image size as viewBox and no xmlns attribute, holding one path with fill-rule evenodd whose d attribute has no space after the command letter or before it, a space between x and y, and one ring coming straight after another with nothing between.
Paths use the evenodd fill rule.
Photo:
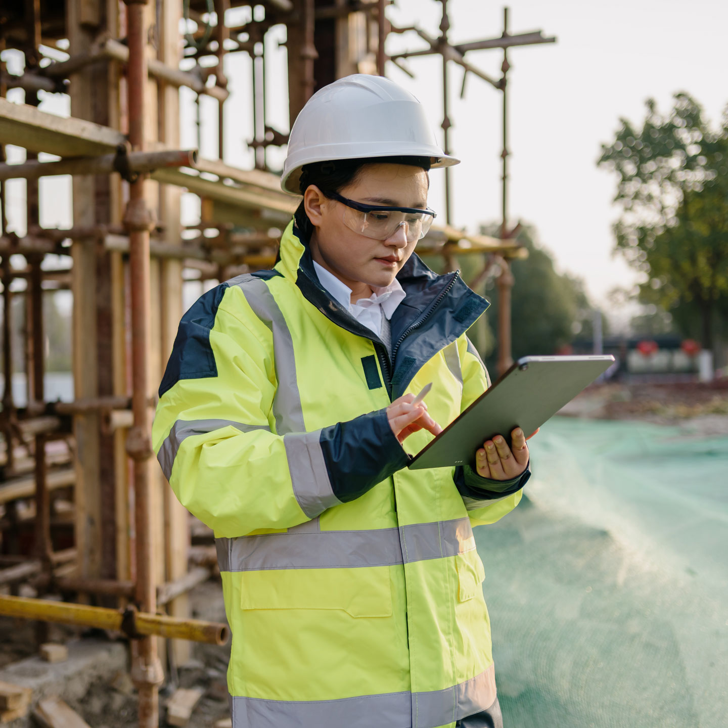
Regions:
<instances>
[{"instance_id":1,"label":"rusty reddish vertical scaffold post in the left foreground, full photo height","mask_svg":"<svg viewBox=\"0 0 728 728\"><path fill-rule=\"evenodd\" d=\"M144 107L147 82L147 34L144 17L146 0L124 0L127 4L127 93L129 140L132 149L144 146ZM157 611L157 586L154 583L155 555L151 539L151 416L149 411L149 232L152 221L144 198L144 175L130 184L129 202L124 214L129 232L129 262L132 306L132 410L134 426L127 436L127 452L132 457L136 526L135 598L143 612ZM132 681L139 691L139 726L159 725L159 685L164 679L157 655L157 641L145 637L138 641Z\"/></svg>"}]
</instances>

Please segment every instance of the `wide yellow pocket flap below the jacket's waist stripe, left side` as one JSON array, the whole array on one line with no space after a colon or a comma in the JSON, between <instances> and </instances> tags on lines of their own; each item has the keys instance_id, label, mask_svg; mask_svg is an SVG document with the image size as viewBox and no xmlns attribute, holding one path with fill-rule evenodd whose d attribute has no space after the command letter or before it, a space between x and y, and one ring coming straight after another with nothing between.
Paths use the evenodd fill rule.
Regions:
<instances>
[{"instance_id":1,"label":"wide yellow pocket flap below the jacket's waist stripe, left side","mask_svg":"<svg viewBox=\"0 0 728 728\"><path fill-rule=\"evenodd\" d=\"M241 609L334 609L390 617L389 567L243 571Z\"/></svg>"}]
</instances>

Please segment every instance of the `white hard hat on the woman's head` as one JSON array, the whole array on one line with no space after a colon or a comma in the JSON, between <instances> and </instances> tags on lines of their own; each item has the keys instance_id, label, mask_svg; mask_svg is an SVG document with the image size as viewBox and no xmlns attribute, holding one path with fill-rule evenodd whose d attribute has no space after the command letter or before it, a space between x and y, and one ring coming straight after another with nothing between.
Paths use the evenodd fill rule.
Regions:
<instances>
[{"instance_id":1,"label":"white hard hat on the woman's head","mask_svg":"<svg viewBox=\"0 0 728 728\"><path fill-rule=\"evenodd\" d=\"M301 167L362 157L430 157L432 167L460 161L435 141L422 104L382 76L354 74L318 90L301 109L288 140L280 181L298 191Z\"/></svg>"}]
</instances>

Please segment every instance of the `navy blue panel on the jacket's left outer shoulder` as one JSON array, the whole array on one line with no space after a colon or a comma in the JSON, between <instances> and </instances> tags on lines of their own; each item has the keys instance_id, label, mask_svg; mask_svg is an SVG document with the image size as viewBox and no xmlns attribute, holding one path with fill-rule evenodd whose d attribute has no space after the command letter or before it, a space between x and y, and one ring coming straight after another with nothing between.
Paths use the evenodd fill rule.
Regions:
<instances>
[{"instance_id":1,"label":"navy blue panel on the jacket's left outer shoulder","mask_svg":"<svg viewBox=\"0 0 728 728\"><path fill-rule=\"evenodd\" d=\"M162 377L162 384L159 384L160 398L180 379L218 376L213 347L210 346L210 329L215 325L215 316L226 288L227 283L210 288L182 317L165 376Z\"/></svg>"}]
</instances>

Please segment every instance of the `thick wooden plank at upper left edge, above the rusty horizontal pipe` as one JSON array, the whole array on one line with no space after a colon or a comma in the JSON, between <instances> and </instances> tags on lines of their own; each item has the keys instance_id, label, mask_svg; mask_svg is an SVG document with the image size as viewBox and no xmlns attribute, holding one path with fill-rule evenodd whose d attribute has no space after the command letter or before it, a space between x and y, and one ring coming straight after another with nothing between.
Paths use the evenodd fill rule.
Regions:
<instances>
[{"instance_id":1,"label":"thick wooden plank at upper left edge, above the rusty horizontal pipe","mask_svg":"<svg viewBox=\"0 0 728 728\"><path fill-rule=\"evenodd\" d=\"M108 154L125 139L121 132L101 124L0 98L0 141L60 157L82 157Z\"/></svg>"}]
</instances>

